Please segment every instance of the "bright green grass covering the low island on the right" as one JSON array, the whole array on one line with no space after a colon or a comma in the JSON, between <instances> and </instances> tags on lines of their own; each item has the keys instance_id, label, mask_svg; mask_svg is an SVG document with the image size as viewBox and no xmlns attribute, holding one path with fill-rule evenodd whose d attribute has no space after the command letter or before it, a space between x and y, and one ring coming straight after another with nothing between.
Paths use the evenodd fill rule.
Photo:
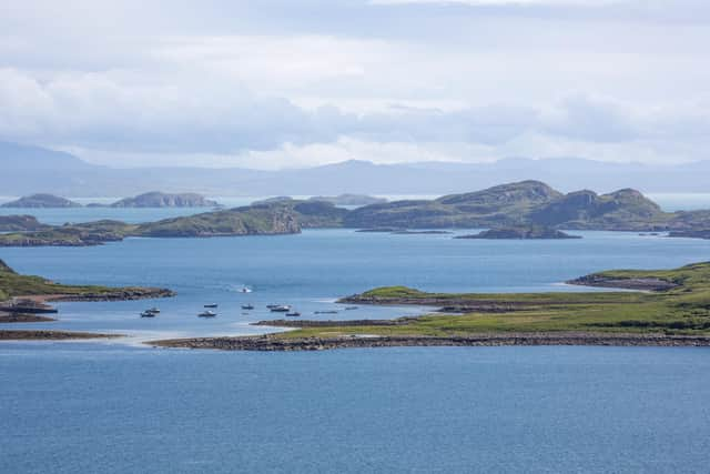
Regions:
<instances>
[{"instance_id":1,"label":"bright green grass covering the low island on the right","mask_svg":"<svg viewBox=\"0 0 710 474\"><path fill-rule=\"evenodd\" d=\"M677 270L618 270L597 273L608 279L661 281L677 284L657 292L575 292L447 294L406 286L379 288L344 299L369 304L426 304L469 307L463 314L429 314L396 325L303 327L274 337L333 337L355 334L462 336L488 332L623 332L710 334L710 262ZM345 325L343 325L345 324Z\"/></svg>"}]
</instances>

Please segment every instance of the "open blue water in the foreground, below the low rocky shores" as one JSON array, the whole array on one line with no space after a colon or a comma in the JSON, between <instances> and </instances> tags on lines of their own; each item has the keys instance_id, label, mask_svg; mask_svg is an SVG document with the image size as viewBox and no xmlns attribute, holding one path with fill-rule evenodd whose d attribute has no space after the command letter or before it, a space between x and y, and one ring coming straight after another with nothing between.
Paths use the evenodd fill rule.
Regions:
<instances>
[{"instance_id":1,"label":"open blue water in the foreground, below the low rocky shores","mask_svg":"<svg viewBox=\"0 0 710 474\"><path fill-rule=\"evenodd\" d=\"M0 345L0 472L706 473L704 349Z\"/></svg>"}]
</instances>

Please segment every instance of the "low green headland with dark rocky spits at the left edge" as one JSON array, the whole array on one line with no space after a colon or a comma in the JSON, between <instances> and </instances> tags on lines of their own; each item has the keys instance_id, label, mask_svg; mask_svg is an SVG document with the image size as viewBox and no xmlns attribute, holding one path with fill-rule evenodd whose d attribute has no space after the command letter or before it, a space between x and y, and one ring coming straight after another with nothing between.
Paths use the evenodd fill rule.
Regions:
<instances>
[{"instance_id":1,"label":"low green headland with dark rocky spits at the left edge","mask_svg":"<svg viewBox=\"0 0 710 474\"><path fill-rule=\"evenodd\" d=\"M57 313L49 302L60 301L126 301L170 297L175 293L161 288L111 288L99 285L65 285L41 276L17 273L0 260L0 323L51 322L45 314ZM116 337L115 334L73 333L65 331L0 331L0 340L9 339L90 339Z\"/></svg>"}]
</instances>

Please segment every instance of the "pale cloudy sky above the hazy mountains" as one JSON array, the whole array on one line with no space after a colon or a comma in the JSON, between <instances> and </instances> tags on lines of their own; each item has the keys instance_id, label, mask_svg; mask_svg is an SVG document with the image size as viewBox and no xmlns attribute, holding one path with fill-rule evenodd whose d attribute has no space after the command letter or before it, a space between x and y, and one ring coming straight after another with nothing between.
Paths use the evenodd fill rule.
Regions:
<instances>
[{"instance_id":1,"label":"pale cloudy sky above the hazy mountains","mask_svg":"<svg viewBox=\"0 0 710 474\"><path fill-rule=\"evenodd\" d=\"M706 0L8 0L0 140L113 167L710 160Z\"/></svg>"}]
</instances>

